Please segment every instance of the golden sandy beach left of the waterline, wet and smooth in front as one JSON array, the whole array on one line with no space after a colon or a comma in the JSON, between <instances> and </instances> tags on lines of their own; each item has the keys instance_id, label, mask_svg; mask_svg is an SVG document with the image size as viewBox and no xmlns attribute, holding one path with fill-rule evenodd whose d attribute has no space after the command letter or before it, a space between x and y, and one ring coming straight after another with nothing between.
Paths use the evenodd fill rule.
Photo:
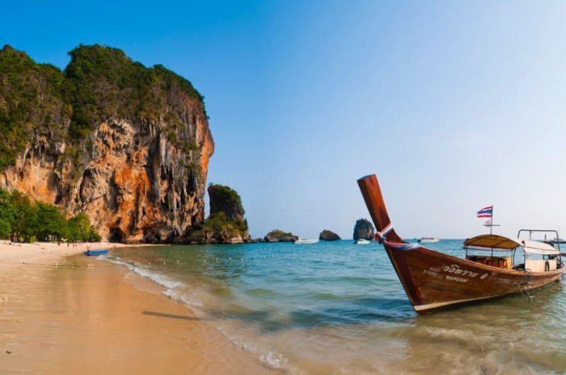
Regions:
<instances>
[{"instance_id":1,"label":"golden sandy beach left of the waterline, wet and smooth in front","mask_svg":"<svg viewBox=\"0 0 566 375\"><path fill-rule=\"evenodd\" d=\"M2 250L0 374L275 373L120 266Z\"/></svg>"}]
</instances>

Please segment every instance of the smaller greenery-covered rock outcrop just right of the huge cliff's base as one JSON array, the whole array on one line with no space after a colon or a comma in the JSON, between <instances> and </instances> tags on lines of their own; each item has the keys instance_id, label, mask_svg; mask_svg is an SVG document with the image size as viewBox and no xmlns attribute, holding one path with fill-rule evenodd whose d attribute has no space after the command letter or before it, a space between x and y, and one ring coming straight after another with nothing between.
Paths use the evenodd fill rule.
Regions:
<instances>
[{"instance_id":1,"label":"smaller greenery-covered rock outcrop just right of the huge cliff's base","mask_svg":"<svg viewBox=\"0 0 566 375\"><path fill-rule=\"evenodd\" d=\"M224 185L208 187L210 216L187 229L181 243L244 243L251 242L248 221L236 190Z\"/></svg>"}]
</instances>

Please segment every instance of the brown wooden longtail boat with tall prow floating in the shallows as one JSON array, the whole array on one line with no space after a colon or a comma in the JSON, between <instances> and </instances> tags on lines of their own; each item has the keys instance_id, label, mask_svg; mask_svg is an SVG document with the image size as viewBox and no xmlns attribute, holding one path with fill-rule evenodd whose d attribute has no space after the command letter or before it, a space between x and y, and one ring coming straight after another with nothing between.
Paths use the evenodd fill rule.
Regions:
<instances>
[{"instance_id":1,"label":"brown wooden longtail boat with tall prow floating in the shallows","mask_svg":"<svg viewBox=\"0 0 566 375\"><path fill-rule=\"evenodd\" d=\"M560 249L540 241L476 236L464 242L466 259L406 243L393 229L376 175L360 178L358 185L376 226L376 240L385 247L419 314L509 294L522 294L530 301L535 289L560 281L565 270ZM518 248L523 248L525 262L514 265ZM468 250L491 251L491 256L468 255ZM513 256L494 256L494 250ZM537 257L542 259L533 259Z\"/></svg>"}]
</instances>

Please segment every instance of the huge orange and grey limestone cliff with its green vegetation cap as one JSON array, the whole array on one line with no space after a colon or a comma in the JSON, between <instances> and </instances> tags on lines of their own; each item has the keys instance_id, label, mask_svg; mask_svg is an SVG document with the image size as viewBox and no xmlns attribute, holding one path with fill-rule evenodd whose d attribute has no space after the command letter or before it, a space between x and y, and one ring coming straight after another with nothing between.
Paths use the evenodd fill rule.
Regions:
<instances>
[{"instance_id":1,"label":"huge orange and grey limestone cliff with its green vegetation cap","mask_svg":"<svg viewBox=\"0 0 566 375\"><path fill-rule=\"evenodd\" d=\"M0 188L85 212L103 239L175 241L204 219L214 142L202 96L120 50L70 54L59 71L0 50Z\"/></svg>"}]
</instances>

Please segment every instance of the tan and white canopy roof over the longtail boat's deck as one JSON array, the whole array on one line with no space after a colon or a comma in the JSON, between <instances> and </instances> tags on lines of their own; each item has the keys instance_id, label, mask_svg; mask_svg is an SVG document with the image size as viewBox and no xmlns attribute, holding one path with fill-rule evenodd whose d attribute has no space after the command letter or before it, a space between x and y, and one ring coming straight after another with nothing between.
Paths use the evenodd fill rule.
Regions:
<instances>
[{"instance_id":1,"label":"tan and white canopy roof over the longtail boat's deck","mask_svg":"<svg viewBox=\"0 0 566 375\"><path fill-rule=\"evenodd\" d=\"M497 236L497 234L483 234L464 241L464 248L514 250L519 246L524 248L525 253L543 255L558 255L560 253L560 250L548 243Z\"/></svg>"}]
</instances>

